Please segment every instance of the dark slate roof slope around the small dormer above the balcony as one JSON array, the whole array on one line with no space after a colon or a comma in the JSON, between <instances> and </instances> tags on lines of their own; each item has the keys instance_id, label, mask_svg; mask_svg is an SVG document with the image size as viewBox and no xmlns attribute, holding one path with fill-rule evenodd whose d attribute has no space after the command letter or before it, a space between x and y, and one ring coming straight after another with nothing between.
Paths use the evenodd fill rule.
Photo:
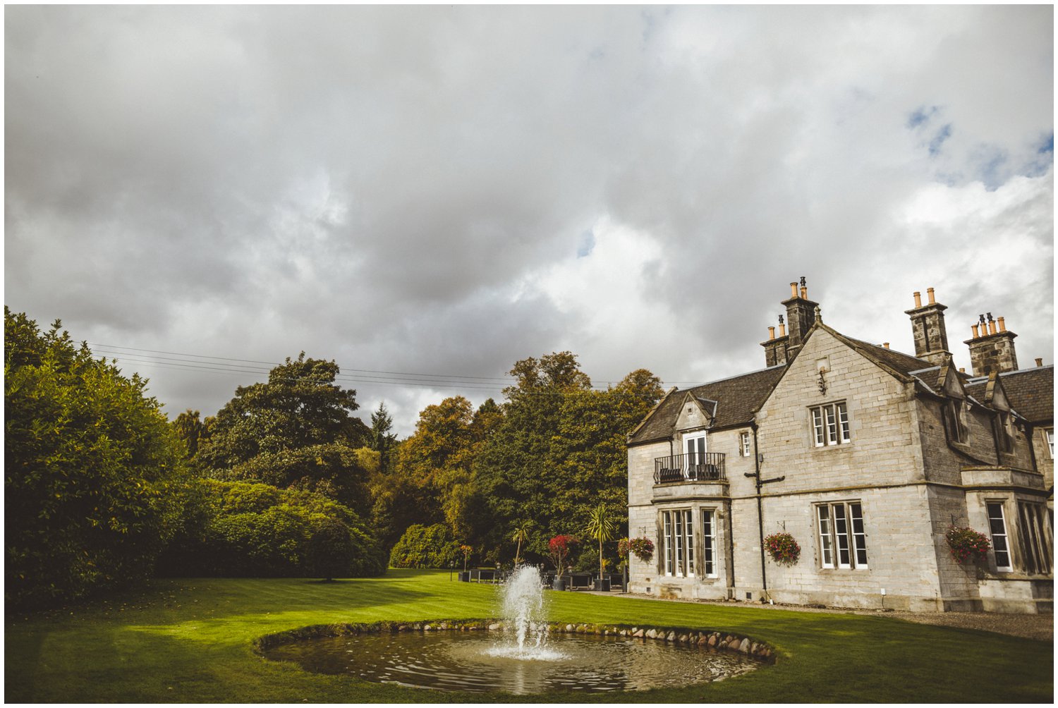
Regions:
<instances>
[{"instance_id":1,"label":"dark slate roof slope around the small dormer above the balcony","mask_svg":"<svg viewBox=\"0 0 1058 708\"><path fill-rule=\"evenodd\" d=\"M776 387L785 364L751 371L741 376L705 383L693 388L671 392L651 416L628 437L628 444L642 444L668 440L672 437L673 425L679 417L679 411L690 392L695 398L716 401L716 415L712 430L747 425L753 419L753 414Z\"/></svg>"}]
</instances>

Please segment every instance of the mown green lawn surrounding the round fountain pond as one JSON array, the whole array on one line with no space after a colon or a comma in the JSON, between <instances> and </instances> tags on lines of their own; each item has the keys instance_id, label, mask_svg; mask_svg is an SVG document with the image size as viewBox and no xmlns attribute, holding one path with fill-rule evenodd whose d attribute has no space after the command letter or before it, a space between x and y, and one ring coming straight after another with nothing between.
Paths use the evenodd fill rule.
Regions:
<instances>
[{"instance_id":1,"label":"mown green lawn surrounding the round fountain pond","mask_svg":"<svg viewBox=\"0 0 1058 708\"><path fill-rule=\"evenodd\" d=\"M618 695L440 693L306 673L268 661L254 638L331 622L486 618L496 588L449 574L383 578L158 580L62 611L7 613L5 702L71 703L1052 703L1054 647L883 616L548 593L555 621L727 630L779 660L715 684ZM1050 617L1041 621L1051 621Z\"/></svg>"}]
</instances>

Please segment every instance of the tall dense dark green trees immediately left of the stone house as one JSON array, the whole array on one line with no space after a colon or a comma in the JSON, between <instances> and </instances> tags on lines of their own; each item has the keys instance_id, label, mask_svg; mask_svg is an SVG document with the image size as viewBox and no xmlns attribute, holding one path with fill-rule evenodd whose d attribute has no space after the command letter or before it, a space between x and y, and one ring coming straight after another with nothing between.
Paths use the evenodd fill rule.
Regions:
<instances>
[{"instance_id":1,"label":"tall dense dark green trees immediately left of the stone house","mask_svg":"<svg viewBox=\"0 0 1058 708\"><path fill-rule=\"evenodd\" d=\"M661 397L657 377L638 369L613 388L592 391L568 351L519 361L511 376L517 384L505 392L505 416L474 466L480 504L472 538L499 549L497 560L509 559L511 533L525 520L541 532L523 553L543 558L549 538L580 533L600 503L615 510L614 522L623 528L625 436Z\"/></svg>"}]
</instances>

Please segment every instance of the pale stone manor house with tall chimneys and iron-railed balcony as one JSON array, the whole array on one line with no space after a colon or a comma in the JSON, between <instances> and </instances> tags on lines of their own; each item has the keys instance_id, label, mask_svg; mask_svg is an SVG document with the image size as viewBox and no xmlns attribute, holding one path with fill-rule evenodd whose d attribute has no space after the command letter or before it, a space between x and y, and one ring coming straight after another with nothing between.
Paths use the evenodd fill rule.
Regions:
<instances>
[{"instance_id":1,"label":"pale stone manor house with tall chimneys and iron-railed balcony","mask_svg":"<svg viewBox=\"0 0 1058 708\"><path fill-rule=\"evenodd\" d=\"M1054 366L1019 369L989 313L956 369L932 288L912 357L828 327L798 285L766 368L673 388L628 436L630 537L655 544L632 592L1053 612ZM952 560L952 526L991 540L987 562ZM765 552L783 531L792 565Z\"/></svg>"}]
</instances>

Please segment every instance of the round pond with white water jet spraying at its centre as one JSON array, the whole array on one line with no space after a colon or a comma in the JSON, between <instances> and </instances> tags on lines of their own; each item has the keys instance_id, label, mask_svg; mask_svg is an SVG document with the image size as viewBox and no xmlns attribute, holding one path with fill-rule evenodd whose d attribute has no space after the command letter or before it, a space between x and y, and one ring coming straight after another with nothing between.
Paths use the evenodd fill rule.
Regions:
<instances>
[{"instance_id":1,"label":"round pond with white water jet spraying at its centre","mask_svg":"<svg viewBox=\"0 0 1058 708\"><path fill-rule=\"evenodd\" d=\"M320 673L442 691L516 694L683 686L762 666L758 657L714 650L712 635L718 641L720 633L686 631L677 636L644 628L552 628L540 570L533 566L518 568L498 599L501 621L347 625L338 636L267 642L262 649L268 658L295 661ZM733 646L738 640L727 636L725 641Z\"/></svg>"}]
</instances>

